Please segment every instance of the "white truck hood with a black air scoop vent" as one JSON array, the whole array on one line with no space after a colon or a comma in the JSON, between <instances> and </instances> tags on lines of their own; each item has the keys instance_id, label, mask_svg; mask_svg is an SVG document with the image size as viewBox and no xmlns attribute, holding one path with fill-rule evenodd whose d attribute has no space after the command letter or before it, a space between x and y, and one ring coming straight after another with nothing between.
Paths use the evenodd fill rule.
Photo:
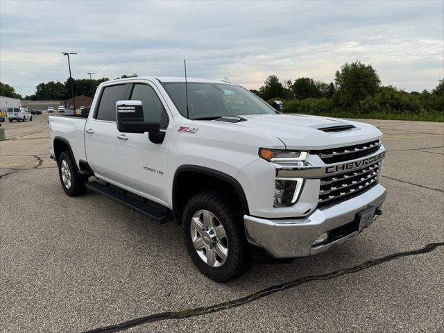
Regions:
<instances>
[{"instance_id":1,"label":"white truck hood with a black air scoop vent","mask_svg":"<svg viewBox=\"0 0 444 333\"><path fill-rule=\"evenodd\" d=\"M231 123L264 136L278 137L287 149L334 148L377 139L382 133L368 123L306 114L255 114ZM227 123L228 125L228 123ZM355 126L337 128L337 126ZM247 129L248 128L248 129Z\"/></svg>"}]
</instances>

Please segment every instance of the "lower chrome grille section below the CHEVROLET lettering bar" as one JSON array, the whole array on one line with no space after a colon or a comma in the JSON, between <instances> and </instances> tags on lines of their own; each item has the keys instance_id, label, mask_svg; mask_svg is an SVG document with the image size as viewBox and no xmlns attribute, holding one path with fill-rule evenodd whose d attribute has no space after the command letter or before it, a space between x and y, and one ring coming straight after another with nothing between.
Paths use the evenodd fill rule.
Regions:
<instances>
[{"instance_id":1,"label":"lower chrome grille section below the CHEVROLET lettering bar","mask_svg":"<svg viewBox=\"0 0 444 333\"><path fill-rule=\"evenodd\" d=\"M333 205L339 201L358 196L377 184L381 162L362 169L321 178L318 207Z\"/></svg>"}]
</instances>

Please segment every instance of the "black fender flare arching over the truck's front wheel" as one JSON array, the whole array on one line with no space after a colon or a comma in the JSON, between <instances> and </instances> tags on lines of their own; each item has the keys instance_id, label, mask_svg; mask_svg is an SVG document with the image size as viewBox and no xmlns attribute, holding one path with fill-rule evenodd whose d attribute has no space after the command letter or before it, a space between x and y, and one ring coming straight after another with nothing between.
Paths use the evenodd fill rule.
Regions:
<instances>
[{"instance_id":1,"label":"black fender flare arching over the truck's front wheel","mask_svg":"<svg viewBox=\"0 0 444 333\"><path fill-rule=\"evenodd\" d=\"M176 200L176 180L180 173L183 172L195 172L195 173L203 173L206 176L212 176L214 178L218 178L219 180L223 180L224 182L227 182L229 185L231 185L236 191L239 196L239 200L241 201L241 207L244 212L244 214L249 215L250 210L248 209L248 201L244 192L244 189L242 188L241 184L237 181L236 178L233 178L232 176L223 173L218 170L210 169L207 167L201 167L199 165L193 165L193 164L185 164L178 169L176 169L176 173L174 173L173 178L173 212L176 212L177 210L177 200Z\"/></svg>"}]
</instances>

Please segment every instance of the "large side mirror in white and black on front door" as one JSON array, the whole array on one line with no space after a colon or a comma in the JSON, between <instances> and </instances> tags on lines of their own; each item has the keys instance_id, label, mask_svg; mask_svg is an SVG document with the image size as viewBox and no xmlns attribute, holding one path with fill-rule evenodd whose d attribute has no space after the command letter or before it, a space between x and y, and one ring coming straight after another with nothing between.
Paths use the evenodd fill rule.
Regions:
<instances>
[{"instance_id":1,"label":"large side mirror in white and black on front door","mask_svg":"<svg viewBox=\"0 0 444 333\"><path fill-rule=\"evenodd\" d=\"M142 101L116 102L117 130L121 133L146 133L153 144L161 144L165 133L160 131L158 121L144 121Z\"/></svg>"}]
</instances>

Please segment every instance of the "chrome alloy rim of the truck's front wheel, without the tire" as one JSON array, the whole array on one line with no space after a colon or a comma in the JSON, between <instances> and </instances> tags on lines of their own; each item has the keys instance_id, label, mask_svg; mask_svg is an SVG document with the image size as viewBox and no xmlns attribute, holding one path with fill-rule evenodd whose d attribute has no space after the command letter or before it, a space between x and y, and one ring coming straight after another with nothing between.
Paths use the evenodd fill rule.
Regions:
<instances>
[{"instance_id":1,"label":"chrome alloy rim of the truck's front wheel, without the tire","mask_svg":"<svg viewBox=\"0 0 444 333\"><path fill-rule=\"evenodd\" d=\"M191 219L194 249L208 266L219 267L228 257L228 239L222 223L212 212L199 210Z\"/></svg>"}]
</instances>

